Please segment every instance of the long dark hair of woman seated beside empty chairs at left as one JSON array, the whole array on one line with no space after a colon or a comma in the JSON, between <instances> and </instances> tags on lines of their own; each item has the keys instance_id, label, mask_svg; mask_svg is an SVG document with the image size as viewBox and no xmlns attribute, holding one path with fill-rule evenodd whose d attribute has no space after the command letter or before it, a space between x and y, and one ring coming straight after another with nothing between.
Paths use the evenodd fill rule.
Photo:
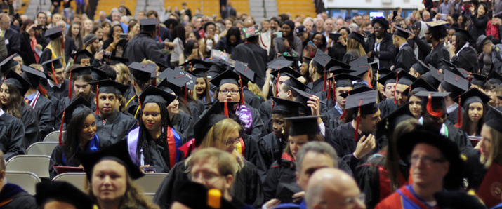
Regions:
<instances>
[{"instance_id":1,"label":"long dark hair of woman seated beside empty chairs at left","mask_svg":"<svg viewBox=\"0 0 502 209\"><path fill-rule=\"evenodd\" d=\"M84 107L83 104L79 104L79 106ZM68 127L65 133L65 140L63 140L64 146L62 147L62 151L66 156L67 163L74 163L69 166L79 166L75 164L75 161L73 160L77 157L77 153L84 152L84 149L80 146L80 132L82 130L84 121L90 114L93 114L93 111L87 108L83 112L79 112L79 114L72 116L70 123L68 123Z\"/></svg>"}]
</instances>

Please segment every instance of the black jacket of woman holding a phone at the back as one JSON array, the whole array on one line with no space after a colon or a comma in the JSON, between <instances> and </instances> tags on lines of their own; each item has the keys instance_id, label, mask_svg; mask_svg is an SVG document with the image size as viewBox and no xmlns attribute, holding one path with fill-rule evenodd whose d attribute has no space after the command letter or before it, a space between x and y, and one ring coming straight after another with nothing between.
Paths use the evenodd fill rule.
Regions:
<instances>
[{"instance_id":1,"label":"black jacket of woman holding a phone at the back","mask_svg":"<svg viewBox=\"0 0 502 209\"><path fill-rule=\"evenodd\" d=\"M376 36L375 34L369 34L368 40L366 40L366 46L368 50L371 51L371 58L378 58L380 65L378 68L387 67L394 65L395 51L396 47L392 43L392 34L385 33L383 35L382 41L380 42L380 50L375 51Z\"/></svg>"}]
</instances>

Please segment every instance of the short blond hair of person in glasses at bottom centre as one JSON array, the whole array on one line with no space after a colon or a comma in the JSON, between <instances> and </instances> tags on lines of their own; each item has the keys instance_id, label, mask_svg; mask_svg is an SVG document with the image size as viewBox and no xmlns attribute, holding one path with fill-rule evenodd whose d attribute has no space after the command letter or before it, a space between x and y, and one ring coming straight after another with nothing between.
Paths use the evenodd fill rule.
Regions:
<instances>
[{"instance_id":1,"label":"short blond hair of person in glasses at bottom centre","mask_svg":"<svg viewBox=\"0 0 502 209\"><path fill-rule=\"evenodd\" d=\"M218 172L222 176L232 175L235 177L237 172L239 171L239 163L237 163L237 159L235 159L232 154L227 153L226 151L222 151L220 149L216 149L214 147L199 149L194 152L188 159L185 161L185 166L187 167L187 173L190 173L192 167L200 163L202 161L208 159L215 159L216 165L218 166Z\"/></svg>"}]
</instances>

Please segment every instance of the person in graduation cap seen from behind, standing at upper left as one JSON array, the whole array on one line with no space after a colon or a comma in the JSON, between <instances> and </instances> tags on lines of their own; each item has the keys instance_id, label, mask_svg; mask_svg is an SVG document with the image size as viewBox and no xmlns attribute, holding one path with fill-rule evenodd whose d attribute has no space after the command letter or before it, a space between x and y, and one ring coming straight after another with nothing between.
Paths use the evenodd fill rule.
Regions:
<instances>
[{"instance_id":1,"label":"person in graduation cap seen from behind, standing at upper left","mask_svg":"<svg viewBox=\"0 0 502 209\"><path fill-rule=\"evenodd\" d=\"M164 60L164 54L159 48L159 43L155 37L159 31L159 20L142 19L140 20L141 32L135 39L131 39L124 48L123 58L128 58L129 62L141 62L144 59L160 62L168 65Z\"/></svg>"}]
</instances>

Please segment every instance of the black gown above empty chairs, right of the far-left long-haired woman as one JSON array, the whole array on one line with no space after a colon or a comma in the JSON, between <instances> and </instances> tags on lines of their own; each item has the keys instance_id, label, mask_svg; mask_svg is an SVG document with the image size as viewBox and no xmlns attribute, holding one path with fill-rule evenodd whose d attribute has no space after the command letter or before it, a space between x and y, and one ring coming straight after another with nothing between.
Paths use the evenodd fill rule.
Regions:
<instances>
[{"instance_id":1,"label":"black gown above empty chairs, right of the far-left long-haired woman","mask_svg":"<svg viewBox=\"0 0 502 209\"><path fill-rule=\"evenodd\" d=\"M39 119L39 140L44 140L44 137L53 131L55 125L54 104L44 95L39 95L35 104L35 112L37 112Z\"/></svg>"}]
</instances>

